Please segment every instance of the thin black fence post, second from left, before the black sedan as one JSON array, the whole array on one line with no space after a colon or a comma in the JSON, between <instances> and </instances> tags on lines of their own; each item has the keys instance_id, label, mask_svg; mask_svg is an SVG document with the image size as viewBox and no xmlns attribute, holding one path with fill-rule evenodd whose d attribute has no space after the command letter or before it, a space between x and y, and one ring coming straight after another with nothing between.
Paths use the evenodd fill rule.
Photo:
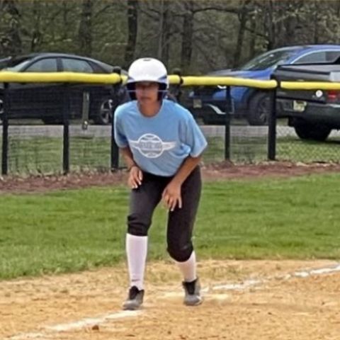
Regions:
<instances>
[{"instance_id":1,"label":"thin black fence post, second from left, before the black sedan","mask_svg":"<svg viewBox=\"0 0 340 340\"><path fill-rule=\"evenodd\" d=\"M69 86L64 84L62 101L62 121L64 124L62 138L62 170L63 174L69 173Z\"/></svg>"}]
</instances>

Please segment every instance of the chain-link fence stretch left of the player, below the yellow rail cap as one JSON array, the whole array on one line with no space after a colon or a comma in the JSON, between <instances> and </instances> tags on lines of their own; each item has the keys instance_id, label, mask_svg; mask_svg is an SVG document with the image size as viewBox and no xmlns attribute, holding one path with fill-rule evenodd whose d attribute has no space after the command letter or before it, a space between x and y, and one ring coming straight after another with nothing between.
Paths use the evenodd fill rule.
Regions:
<instances>
[{"instance_id":1,"label":"chain-link fence stretch left of the player, below the yellow rail cap","mask_svg":"<svg viewBox=\"0 0 340 340\"><path fill-rule=\"evenodd\" d=\"M117 168L118 148L111 138L121 98L116 89L119 84L6 84L0 94L1 174Z\"/></svg>"}]
</instances>

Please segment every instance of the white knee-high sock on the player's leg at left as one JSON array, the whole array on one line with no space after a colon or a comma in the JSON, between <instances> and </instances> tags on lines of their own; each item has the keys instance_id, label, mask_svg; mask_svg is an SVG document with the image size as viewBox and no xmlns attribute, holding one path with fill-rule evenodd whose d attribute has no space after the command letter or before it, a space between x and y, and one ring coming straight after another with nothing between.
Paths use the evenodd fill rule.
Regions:
<instances>
[{"instance_id":1,"label":"white knee-high sock on the player's leg at left","mask_svg":"<svg viewBox=\"0 0 340 340\"><path fill-rule=\"evenodd\" d=\"M135 285L139 290L144 288L145 262L147 261L147 236L126 234L126 254L130 287Z\"/></svg>"}]
</instances>

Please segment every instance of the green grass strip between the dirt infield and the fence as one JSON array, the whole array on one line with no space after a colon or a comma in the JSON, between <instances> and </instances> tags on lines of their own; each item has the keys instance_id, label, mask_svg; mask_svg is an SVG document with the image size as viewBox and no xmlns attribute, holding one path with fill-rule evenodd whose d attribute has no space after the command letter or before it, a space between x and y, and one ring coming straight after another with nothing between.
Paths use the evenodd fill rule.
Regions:
<instances>
[{"instance_id":1,"label":"green grass strip between the dirt infield and the fence","mask_svg":"<svg viewBox=\"0 0 340 340\"><path fill-rule=\"evenodd\" d=\"M339 259L340 174L205 183L198 259ZM123 186L0 196L0 278L124 261ZM159 207L149 260L169 259Z\"/></svg>"}]
</instances>

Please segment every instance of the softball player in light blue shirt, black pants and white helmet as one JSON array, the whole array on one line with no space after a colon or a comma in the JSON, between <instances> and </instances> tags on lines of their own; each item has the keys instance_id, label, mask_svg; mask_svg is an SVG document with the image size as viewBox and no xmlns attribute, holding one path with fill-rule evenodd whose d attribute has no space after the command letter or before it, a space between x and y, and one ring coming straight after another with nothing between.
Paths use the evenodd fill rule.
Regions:
<instances>
[{"instance_id":1,"label":"softball player in light blue shirt, black pants and white helmet","mask_svg":"<svg viewBox=\"0 0 340 340\"><path fill-rule=\"evenodd\" d=\"M130 289L125 310L141 307L147 259L147 233L160 201L169 209L167 250L183 275L184 304L199 305L200 284L191 236L200 200L200 157L207 146L186 108L165 98L164 64L135 60L128 70L132 101L115 111L115 142L128 166L130 212L125 246Z\"/></svg>"}]
</instances>

